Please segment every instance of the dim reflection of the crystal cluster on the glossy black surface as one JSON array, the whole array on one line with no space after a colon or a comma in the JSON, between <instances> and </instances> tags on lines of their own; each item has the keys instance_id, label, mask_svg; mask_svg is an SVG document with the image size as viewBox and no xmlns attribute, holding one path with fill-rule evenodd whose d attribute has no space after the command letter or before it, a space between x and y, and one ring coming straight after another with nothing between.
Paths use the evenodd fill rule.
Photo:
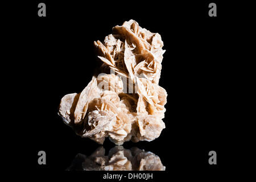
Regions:
<instances>
[{"instance_id":1,"label":"dim reflection of the crystal cluster on the glossy black surface","mask_svg":"<svg viewBox=\"0 0 256 182\"><path fill-rule=\"evenodd\" d=\"M104 147L98 147L92 155L77 154L68 171L164 171L159 156L137 147L127 150L115 146L105 155Z\"/></svg>"}]
</instances>

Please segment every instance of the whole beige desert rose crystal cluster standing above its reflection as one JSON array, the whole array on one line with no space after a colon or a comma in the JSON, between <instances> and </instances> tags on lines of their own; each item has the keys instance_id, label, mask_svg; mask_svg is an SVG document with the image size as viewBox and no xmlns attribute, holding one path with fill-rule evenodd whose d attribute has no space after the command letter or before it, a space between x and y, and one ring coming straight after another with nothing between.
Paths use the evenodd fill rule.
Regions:
<instances>
[{"instance_id":1,"label":"whole beige desert rose crystal cluster standing above its reflection","mask_svg":"<svg viewBox=\"0 0 256 182\"><path fill-rule=\"evenodd\" d=\"M151 141L165 128L167 93L158 85L164 50L161 36L134 20L94 42L100 74L81 93L65 95L59 115L81 137L115 144Z\"/></svg>"}]
</instances>

